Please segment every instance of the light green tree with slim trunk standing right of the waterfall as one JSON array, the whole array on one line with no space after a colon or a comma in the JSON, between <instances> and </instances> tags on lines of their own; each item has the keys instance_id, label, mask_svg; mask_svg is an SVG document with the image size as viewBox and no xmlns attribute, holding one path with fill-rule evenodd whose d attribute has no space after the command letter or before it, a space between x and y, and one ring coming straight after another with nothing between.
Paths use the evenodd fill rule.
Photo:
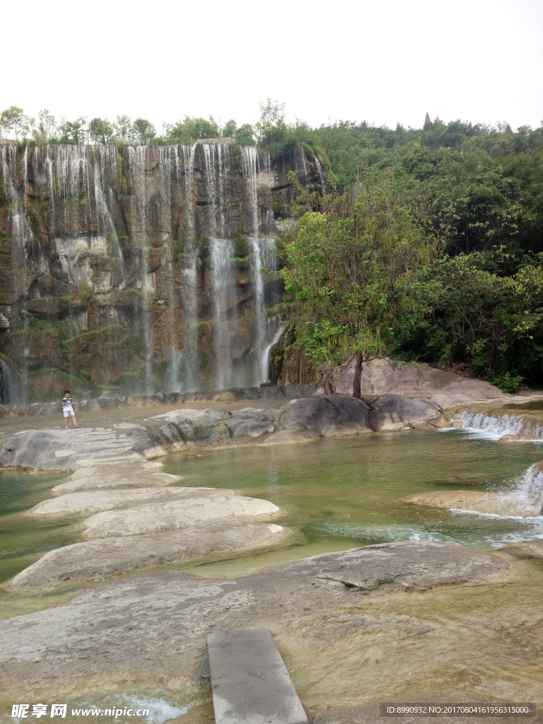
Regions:
<instances>
[{"instance_id":1,"label":"light green tree with slim trunk standing right of the waterfall","mask_svg":"<svg viewBox=\"0 0 543 724\"><path fill-rule=\"evenodd\" d=\"M436 243L390 177L327 197L324 209L304 214L285 238L285 314L313 363L355 358L360 397L363 360L386 352L398 324L425 308L416 292Z\"/></svg>"}]
</instances>

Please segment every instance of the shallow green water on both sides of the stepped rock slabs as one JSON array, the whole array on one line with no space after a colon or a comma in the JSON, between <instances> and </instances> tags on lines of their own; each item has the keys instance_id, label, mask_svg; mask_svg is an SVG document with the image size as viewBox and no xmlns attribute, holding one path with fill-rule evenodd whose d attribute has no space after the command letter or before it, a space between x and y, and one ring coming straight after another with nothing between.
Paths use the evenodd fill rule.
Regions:
<instances>
[{"instance_id":1,"label":"shallow green water on both sides of the stepped rock slabs","mask_svg":"<svg viewBox=\"0 0 543 724\"><path fill-rule=\"evenodd\" d=\"M319 439L297 445L199 450L174 455L164 470L187 476L182 485L224 487L271 500L281 521L303 532L302 545L256 555L258 567L330 550L395 540L442 540L484 548L543 536L543 518L509 520L407 505L432 490L506 490L536 460L543 445L500 445L463 432L406 432ZM80 518L24 515L66 476L0 471L0 581L43 553L80 540ZM254 562L253 562L254 563ZM247 559L206 564L200 572L236 575Z\"/></svg>"}]
</instances>

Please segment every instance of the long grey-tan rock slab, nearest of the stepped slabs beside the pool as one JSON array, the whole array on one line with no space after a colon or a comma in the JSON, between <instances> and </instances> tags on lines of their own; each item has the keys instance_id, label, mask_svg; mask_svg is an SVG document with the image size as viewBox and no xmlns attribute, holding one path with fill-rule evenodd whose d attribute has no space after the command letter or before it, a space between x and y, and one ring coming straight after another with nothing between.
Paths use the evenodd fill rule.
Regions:
<instances>
[{"instance_id":1,"label":"long grey-tan rock slab, nearest of the stepped slabs beside the pool","mask_svg":"<svg viewBox=\"0 0 543 724\"><path fill-rule=\"evenodd\" d=\"M9 582L9 589L53 588L73 579L100 581L144 565L196 559L219 560L232 552L277 547L292 530L275 523L187 528L143 536L75 543L46 553Z\"/></svg>"}]
</instances>

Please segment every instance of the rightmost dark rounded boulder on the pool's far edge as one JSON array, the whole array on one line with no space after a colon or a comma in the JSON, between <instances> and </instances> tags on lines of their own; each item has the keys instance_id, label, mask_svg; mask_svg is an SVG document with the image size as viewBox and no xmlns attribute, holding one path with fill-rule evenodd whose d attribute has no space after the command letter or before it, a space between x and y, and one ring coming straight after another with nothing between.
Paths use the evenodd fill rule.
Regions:
<instances>
[{"instance_id":1,"label":"rightmost dark rounded boulder on the pool's far edge","mask_svg":"<svg viewBox=\"0 0 543 724\"><path fill-rule=\"evenodd\" d=\"M371 405L368 424L374 432L431 430L445 427L449 422L432 405L403 395L381 395Z\"/></svg>"}]
</instances>

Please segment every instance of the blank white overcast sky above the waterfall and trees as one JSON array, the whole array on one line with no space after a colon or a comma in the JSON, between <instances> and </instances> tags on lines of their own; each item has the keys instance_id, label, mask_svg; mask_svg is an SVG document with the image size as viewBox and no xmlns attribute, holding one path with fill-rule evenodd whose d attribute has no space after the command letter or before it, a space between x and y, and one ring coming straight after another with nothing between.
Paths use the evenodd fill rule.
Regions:
<instances>
[{"instance_id":1,"label":"blank white overcast sky above the waterfall and trees","mask_svg":"<svg viewBox=\"0 0 543 724\"><path fill-rule=\"evenodd\" d=\"M543 119L542 0L7 0L0 110L311 125Z\"/></svg>"}]
</instances>

